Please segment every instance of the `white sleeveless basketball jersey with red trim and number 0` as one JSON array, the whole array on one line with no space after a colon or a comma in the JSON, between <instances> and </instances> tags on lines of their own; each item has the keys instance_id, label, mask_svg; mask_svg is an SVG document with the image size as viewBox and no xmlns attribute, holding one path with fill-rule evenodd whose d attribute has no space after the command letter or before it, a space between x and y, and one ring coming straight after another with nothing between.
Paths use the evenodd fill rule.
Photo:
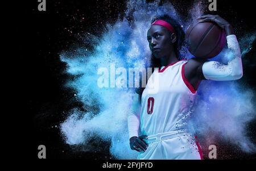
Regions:
<instances>
[{"instance_id":1,"label":"white sleeveless basketball jersey with red trim and number 0","mask_svg":"<svg viewBox=\"0 0 256 171\"><path fill-rule=\"evenodd\" d=\"M162 66L151 74L142 94L142 135L183 130L187 125L196 91L184 77L186 62ZM158 91L152 91L153 86Z\"/></svg>"}]
</instances>

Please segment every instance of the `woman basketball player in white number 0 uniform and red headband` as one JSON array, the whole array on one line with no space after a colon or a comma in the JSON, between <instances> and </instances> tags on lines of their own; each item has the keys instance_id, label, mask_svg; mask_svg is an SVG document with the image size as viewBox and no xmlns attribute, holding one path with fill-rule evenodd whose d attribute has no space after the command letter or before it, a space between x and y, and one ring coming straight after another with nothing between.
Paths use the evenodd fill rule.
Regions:
<instances>
[{"instance_id":1,"label":"woman basketball player in white number 0 uniform and red headband","mask_svg":"<svg viewBox=\"0 0 256 171\"><path fill-rule=\"evenodd\" d=\"M200 145L186 130L187 119L201 80L238 80L242 77L241 52L233 28L218 15L204 15L199 22L215 22L226 32L228 48L236 57L228 65L192 58L181 60L184 32L168 15L151 21L147 40L151 67L157 68L143 89L137 89L128 115L130 147L137 159L203 159ZM157 82L154 82L158 78ZM157 86L152 93L150 87ZM142 136L138 136L141 128Z\"/></svg>"}]
</instances>

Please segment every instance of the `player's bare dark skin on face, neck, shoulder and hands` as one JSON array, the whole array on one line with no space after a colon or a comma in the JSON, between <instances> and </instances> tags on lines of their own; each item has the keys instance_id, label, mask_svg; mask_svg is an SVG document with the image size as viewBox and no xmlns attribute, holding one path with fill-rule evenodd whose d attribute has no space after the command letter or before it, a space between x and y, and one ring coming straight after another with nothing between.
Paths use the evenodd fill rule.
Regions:
<instances>
[{"instance_id":1,"label":"player's bare dark skin on face, neck, shoulder and hands","mask_svg":"<svg viewBox=\"0 0 256 171\"><path fill-rule=\"evenodd\" d=\"M233 27L218 15L203 15L197 19L199 22L214 22L218 24L218 26L225 30L226 36L234 34ZM147 40L151 52L157 59L160 59L162 66L167 66L168 64L179 61L174 51L174 43L176 41L175 33L171 33L163 26L154 25L151 26L147 32ZM201 80L206 80L202 70L205 61L208 60L192 58L188 60L187 64L184 66L185 78L187 78L195 90L199 87ZM131 137L131 149L138 152L146 151L147 144L143 140L146 138L146 135Z\"/></svg>"}]
</instances>

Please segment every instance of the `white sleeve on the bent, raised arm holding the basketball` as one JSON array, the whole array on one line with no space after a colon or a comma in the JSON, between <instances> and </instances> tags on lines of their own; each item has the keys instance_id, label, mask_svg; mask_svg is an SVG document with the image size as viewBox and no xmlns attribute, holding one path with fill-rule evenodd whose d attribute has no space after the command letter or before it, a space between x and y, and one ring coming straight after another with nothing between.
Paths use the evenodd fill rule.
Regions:
<instances>
[{"instance_id":1,"label":"white sleeve on the bent, raised arm holding the basketball","mask_svg":"<svg viewBox=\"0 0 256 171\"><path fill-rule=\"evenodd\" d=\"M243 76L242 59L240 47L236 35L226 37L228 48L234 53L234 59L228 65L217 61L207 61L203 64L203 74L207 80L229 81L238 80Z\"/></svg>"}]
</instances>

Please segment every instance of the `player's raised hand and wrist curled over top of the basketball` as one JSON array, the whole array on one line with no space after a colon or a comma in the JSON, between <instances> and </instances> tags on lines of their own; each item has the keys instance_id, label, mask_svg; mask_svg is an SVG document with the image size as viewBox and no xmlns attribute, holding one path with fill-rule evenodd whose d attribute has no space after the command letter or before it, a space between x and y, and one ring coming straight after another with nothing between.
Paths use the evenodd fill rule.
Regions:
<instances>
[{"instance_id":1,"label":"player's raised hand and wrist curled over top of the basketball","mask_svg":"<svg viewBox=\"0 0 256 171\"><path fill-rule=\"evenodd\" d=\"M218 24L218 26L225 30L227 36L234 34L233 27L229 24L229 22L221 18L221 16L219 15L203 15L199 16L197 19L199 20L200 23L214 22Z\"/></svg>"}]
</instances>

